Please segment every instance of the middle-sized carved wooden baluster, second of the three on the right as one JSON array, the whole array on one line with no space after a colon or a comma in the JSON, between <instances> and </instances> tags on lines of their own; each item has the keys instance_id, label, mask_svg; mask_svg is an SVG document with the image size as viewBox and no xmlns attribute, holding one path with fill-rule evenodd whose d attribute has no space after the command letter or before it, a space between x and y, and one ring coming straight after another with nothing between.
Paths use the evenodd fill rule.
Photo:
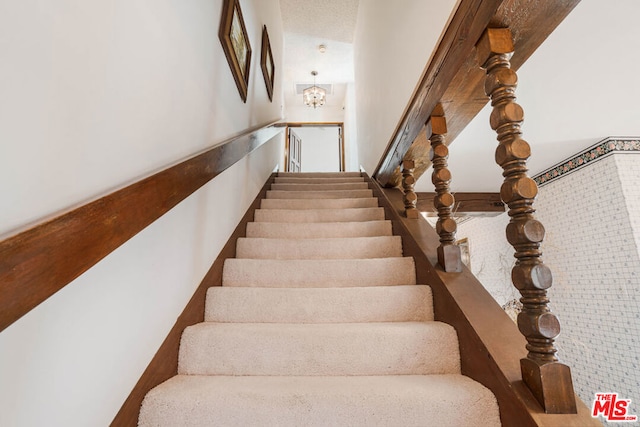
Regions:
<instances>
[{"instance_id":1,"label":"middle-sized carved wooden baluster, second of the three on the right","mask_svg":"<svg viewBox=\"0 0 640 427\"><path fill-rule=\"evenodd\" d=\"M460 247L455 244L456 230L458 225L451 216L451 211L455 204L455 198L449 190L451 182L451 172L448 169L447 158L449 149L445 145L445 134L447 133L447 121L444 117L442 107L436 107L440 114L431 115L427 129L431 128L431 152L429 154L433 163L433 173L431 182L436 187L436 195L433 198L433 205L438 211L438 222L436 231L440 235L440 246L438 246L438 263L444 271L462 271L462 257Z\"/></svg>"}]
</instances>

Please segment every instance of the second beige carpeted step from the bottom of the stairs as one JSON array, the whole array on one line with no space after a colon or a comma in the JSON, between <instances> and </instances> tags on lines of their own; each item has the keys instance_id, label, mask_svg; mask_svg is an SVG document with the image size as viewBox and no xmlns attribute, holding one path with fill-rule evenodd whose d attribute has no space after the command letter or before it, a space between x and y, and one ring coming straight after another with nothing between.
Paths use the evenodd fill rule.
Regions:
<instances>
[{"instance_id":1,"label":"second beige carpeted step from the bottom of the stairs","mask_svg":"<svg viewBox=\"0 0 640 427\"><path fill-rule=\"evenodd\" d=\"M441 322L210 323L182 334L187 375L459 374L458 337Z\"/></svg>"}]
</instances>

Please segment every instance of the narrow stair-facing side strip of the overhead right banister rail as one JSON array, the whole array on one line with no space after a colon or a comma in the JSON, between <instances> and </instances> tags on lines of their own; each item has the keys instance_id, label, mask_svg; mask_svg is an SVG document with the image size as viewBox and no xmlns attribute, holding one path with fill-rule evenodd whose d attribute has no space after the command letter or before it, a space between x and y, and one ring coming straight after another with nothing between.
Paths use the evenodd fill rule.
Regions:
<instances>
[{"instance_id":1,"label":"narrow stair-facing side strip of the overhead right banister rail","mask_svg":"<svg viewBox=\"0 0 640 427\"><path fill-rule=\"evenodd\" d=\"M461 0L373 176L390 182L405 153L503 0Z\"/></svg>"}]
</instances>

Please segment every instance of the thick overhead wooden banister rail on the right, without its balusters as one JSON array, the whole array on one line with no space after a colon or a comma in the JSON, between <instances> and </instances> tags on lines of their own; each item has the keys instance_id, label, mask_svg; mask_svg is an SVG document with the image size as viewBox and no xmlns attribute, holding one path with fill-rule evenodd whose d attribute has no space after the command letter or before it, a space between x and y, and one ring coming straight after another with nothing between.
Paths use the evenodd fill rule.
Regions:
<instances>
[{"instance_id":1,"label":"thick overhead wooden banister rail on the right, without its balusters","mask_svg":"<svg viewBox=\"0 0 640 427\"><path fill-rule=\"evenodd\" d=\"M580 0L461 0L407 108L391 135L373 176L383 187L399 186L403 160L415 161L416 180L431 165L428 147L411 151L429 115L441 102L451 144L487 104L484 73L475 59L475 44L488 27L513 32L514 70L525 63ZM428 136L428 135L427 135Z\"/></svg>"}]
</instances>

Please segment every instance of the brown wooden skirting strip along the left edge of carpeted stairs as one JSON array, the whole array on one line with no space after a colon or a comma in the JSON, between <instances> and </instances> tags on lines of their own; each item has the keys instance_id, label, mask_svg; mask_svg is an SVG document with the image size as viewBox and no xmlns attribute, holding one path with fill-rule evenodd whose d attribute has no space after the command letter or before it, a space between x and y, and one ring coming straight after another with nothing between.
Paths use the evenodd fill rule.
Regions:
<instances>
[{"instance_id":1,"label":"brown wooden skirting strip along the left edge of carpeted stairs","mask_svg":"<svg viewBox=\"0 0 640 427\"><path fill-rule=\"evenodd\" d=\"M111 422L111 426L137 426L140 405L142 405L142 400L149 390L178 373L178 350L182 331L184 331L187 326L204 321L207 289L212 286L222 285L222 267L224 261L227 258L234 258L236 256L236 241L238 238L246 236L247 223L253 221L254 212L259 208L260 200L266 197L267 190L271 187L275 176L276 174L271 174L271 177L267 180L264 187L262 187L262 190L258 193L242 220L240 220L235 231L194 292L193 297L191 297L184 311L180 317L178 317L178 320L176 320L173 328L171 328L167 338L138 380L129 397L127 397L127 400L122 404L120 411L118 411Z\"/></svg>"}]
</instances>

